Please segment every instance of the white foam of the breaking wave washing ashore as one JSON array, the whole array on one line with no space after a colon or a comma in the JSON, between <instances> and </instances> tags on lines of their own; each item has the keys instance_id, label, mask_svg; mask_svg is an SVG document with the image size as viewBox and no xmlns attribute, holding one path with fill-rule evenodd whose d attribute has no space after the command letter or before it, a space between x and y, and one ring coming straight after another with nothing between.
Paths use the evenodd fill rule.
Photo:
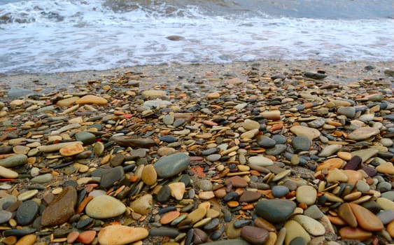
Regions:
<instances>
[{"instance_id":1,"label":"white foam of the breaking wave washing ashore","mask_svg":"<svg viewBox=\"0 0 394 245\"><path fill-rule=\"evenodd\" d=\"M115 13L100 0L79 2L20 1L0 6L0 16L8 11L30 20L0 25L0 73L253 59L394 59L391 19L218 16L204 15L198 8L171 15L141 8ZM48 18L50 12L62 20ZM171 35L184 39L169 41L166 37Z\"/></svg>"}]
</instances>

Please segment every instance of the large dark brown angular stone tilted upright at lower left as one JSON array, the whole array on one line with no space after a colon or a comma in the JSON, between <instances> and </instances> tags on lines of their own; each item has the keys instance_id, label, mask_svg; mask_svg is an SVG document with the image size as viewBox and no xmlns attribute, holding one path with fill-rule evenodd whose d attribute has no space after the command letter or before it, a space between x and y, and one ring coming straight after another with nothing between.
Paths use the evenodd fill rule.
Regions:
<instances>
[{"instance_id":1,"label":"large dark brown angular stone tilted upright at lower left","mask_svg":"<svg viewBox=\"0 0 394 245\"><path fill-rule=\"evenodd\" d=\"M57 195L46 207L41 216L41 225L55 226L62 225L75 214L74 207L77 202L76 189L67 186L62 193Z\"/></svg>"}]
</instances>

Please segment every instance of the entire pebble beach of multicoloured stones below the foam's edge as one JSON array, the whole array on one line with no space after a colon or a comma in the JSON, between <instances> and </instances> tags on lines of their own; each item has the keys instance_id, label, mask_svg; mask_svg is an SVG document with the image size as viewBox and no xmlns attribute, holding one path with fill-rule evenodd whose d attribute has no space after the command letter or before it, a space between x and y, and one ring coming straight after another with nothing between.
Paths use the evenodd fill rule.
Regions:
<instances>
[{"instance_id":1,"label":"entire pebble beach of multicoloured stones below the foam's edge","mask_svg":"<svg viewBox=\"0 0 394 245\"><path fill-rule=\"evenodd\" d=\"M0 75L0 244L391 244L394 64Z\"/></svg>"}]
</instances>

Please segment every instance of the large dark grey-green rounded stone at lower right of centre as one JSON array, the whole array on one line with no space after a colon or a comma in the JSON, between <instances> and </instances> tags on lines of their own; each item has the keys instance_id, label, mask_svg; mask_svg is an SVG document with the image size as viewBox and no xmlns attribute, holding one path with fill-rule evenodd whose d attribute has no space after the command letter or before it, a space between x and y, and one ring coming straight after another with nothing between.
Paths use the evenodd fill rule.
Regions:
<instances>
[{"instance_id":1,"label":"large dark grey-green rounded stone at lower right of centre","mask_svg":"<svg viewBox=\"0 0 394 245\"><path fill-rule=\"evenodd\" d=\"M290 200L260 200L255 211L258 216L272 223L286 221L295 209L295 202Z\"/></svg>"}]
</instances>

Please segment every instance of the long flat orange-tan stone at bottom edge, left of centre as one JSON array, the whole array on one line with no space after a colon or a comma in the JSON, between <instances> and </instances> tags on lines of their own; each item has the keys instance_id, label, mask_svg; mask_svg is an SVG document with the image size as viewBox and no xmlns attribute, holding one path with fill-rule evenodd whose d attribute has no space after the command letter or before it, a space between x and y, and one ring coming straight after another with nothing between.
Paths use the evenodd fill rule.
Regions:
<instances>
[{"instance_id":1,"label":"long flat orange-tan stone at bottom edge, left of centre","mask_svg":"<svg viewBox=\"0 0 394 245\"><path fill-rule=\"evenodd\" d=\"M125 225L108 225L99 231L101 245L123 245L148 237L146 228L133 228Z\"/></svg>"}]
</instances>

